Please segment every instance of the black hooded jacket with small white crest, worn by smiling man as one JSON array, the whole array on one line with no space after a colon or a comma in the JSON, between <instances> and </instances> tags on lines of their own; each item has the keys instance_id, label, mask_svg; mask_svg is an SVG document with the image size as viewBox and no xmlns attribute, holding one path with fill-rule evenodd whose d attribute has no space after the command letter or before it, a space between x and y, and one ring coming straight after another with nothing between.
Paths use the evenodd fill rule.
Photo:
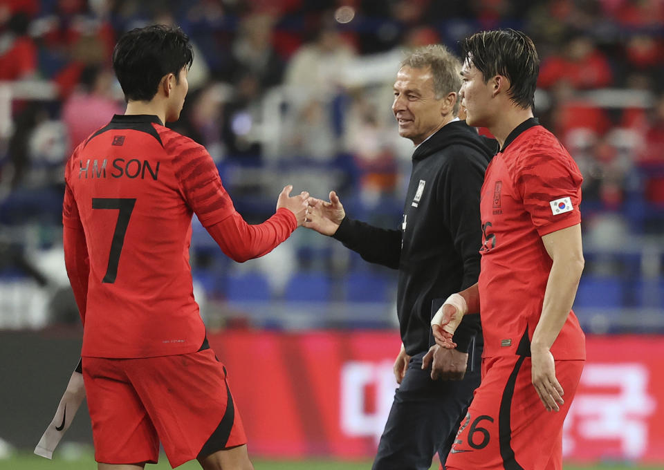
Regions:
<instances>
[{"instance_id":1,"label":"black hooded jacket with small white crest, worn by smiling man","mask_svg":"<svg viewBox=\"0 0 664 470\"><path fill-rule=\"evenodd\" d=\"M481 247L479 194L493 151L477 132L454 121L413 153L400 230L346 217L334 234L363 259L399 270L397 314L409 355L430 347L435 310L454 292L477 282ZM479 315L467 315L454 334L468 352L481 341Z\"/></svg>"}]
</instances>

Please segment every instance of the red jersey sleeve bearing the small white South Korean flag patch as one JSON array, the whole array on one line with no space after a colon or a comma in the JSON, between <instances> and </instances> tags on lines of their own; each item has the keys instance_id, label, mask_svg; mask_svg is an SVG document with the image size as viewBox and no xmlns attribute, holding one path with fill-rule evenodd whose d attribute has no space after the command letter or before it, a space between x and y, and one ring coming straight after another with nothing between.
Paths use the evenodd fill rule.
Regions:
<instances>
[{"instance_id":1,"label":"red jersey sleeve bearing the small white South Korean flag patch","mask_svg":"<svg viewBox=\"0 0 664 470\"><path fill-rule=\"evenodd\" d=\"M510 169L515 189L540 236L581 221L581 183L577 164L560 142L545 129L522 147ZM570 198L573 210L554 214L551 203Z\"/></svg>"}]
</instances>

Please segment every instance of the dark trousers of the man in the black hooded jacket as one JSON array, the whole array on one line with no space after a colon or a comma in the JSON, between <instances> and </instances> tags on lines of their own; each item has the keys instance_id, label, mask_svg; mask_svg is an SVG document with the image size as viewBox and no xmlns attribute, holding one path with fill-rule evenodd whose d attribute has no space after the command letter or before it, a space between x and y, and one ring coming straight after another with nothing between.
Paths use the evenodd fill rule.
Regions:
<instances>
[{"instance_id":1,"label":"dark trousers of the man in the black hooded jacket","mask_svg":"<svg viewBox=\"0 0 664 470\"><path fill-rule=\"evenodd\" d=\"M479 386L482 345L482 338L476 338L465 377L458 381L432 380L431 370L421 369L425 353L410 359L394 393L372 470L429 470L436 452L445 464Z\"/></svg>"}]
</instances>

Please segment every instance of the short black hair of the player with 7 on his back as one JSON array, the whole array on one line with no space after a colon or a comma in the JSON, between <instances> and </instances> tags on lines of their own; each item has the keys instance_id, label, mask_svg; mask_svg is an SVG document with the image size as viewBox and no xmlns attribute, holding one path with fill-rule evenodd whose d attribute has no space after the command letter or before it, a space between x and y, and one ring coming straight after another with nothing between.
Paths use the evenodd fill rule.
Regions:
<instances>
[{"instance_id":1,"label":"short black hair of the player with 7 on his back","mask_svg":"<svg viewBox=\"0 0 664 470\"><path fill-rule=\"evenodd\" d=\"M191 67L194 53L181 28L154 25L125 32L113 50L113 70L124 100L150 101L164 75L179 80L184 67Z\"/></svg>"}]
</instances>

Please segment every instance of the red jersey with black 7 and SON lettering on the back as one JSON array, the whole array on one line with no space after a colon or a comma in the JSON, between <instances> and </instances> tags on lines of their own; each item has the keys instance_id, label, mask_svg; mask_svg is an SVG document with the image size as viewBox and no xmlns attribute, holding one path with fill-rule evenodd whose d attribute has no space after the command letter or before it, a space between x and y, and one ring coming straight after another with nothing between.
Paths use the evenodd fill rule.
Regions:
<instances>
[{"instance_id":1,"label":"red jersey with black 7 and SON lettering on the back","mask_svg":"<svg viewBox=\"0 0 664 470\"><path fill-rule=\"evenodd\" d=\"M192 214L206 228L239 215L209 153L156 116L116 115L75 149L65 180L63 223L82 227L89 256L82 355L199 350L205 326L189 264Z\"/></svg>"}]
</instances>

